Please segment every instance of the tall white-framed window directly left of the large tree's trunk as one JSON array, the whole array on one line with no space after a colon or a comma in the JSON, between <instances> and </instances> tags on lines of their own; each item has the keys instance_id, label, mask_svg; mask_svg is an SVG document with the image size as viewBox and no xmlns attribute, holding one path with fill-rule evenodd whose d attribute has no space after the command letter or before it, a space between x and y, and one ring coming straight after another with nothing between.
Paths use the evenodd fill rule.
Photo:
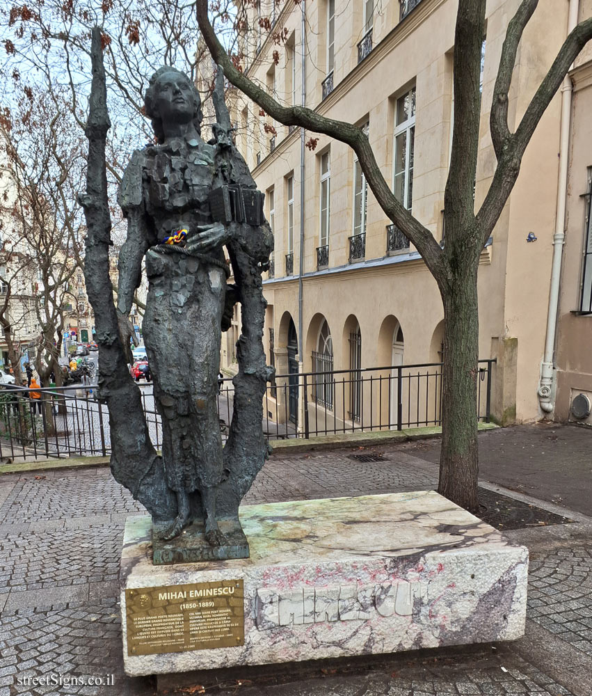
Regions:
<instances>
[{"instance_id":1,"label":"tall white-framed window directly left of the large tree's trunk","mask_svg":"<svg viewBox=\"0 0 592 696\"><path fill-rule=\"evenodd\" d=\"M415 87L399 97L394 115L394 195L410 210L413 202Z\"/></svg>"}]
</instances>

